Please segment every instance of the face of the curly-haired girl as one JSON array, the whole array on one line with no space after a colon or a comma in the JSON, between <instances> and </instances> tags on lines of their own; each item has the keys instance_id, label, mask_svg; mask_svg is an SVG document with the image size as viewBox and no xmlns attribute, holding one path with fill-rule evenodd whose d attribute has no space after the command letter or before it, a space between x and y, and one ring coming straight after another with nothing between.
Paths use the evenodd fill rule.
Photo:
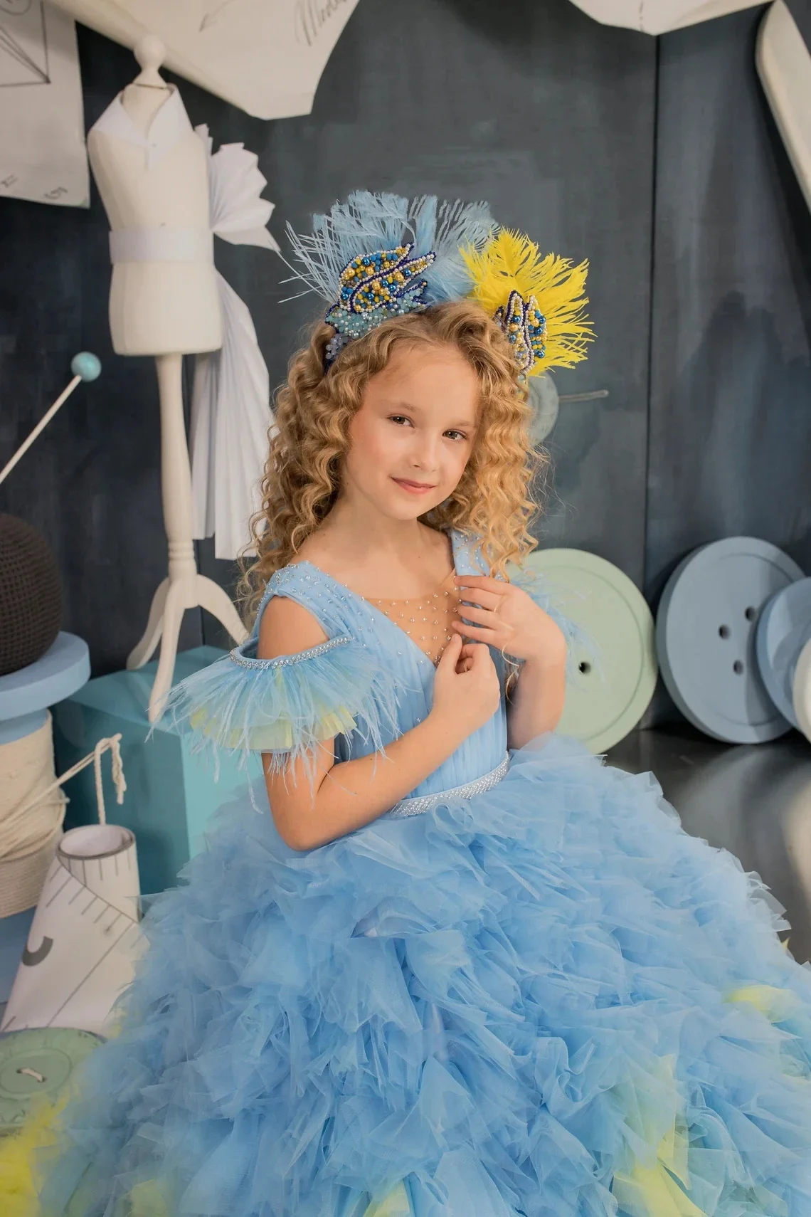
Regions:
<instances>
[{"instance_id":1,"label":"face of the curly-haired girl","mask_svg":"<svg viewBox=\"0 0 811 1217\"><path fill-rule=\"evenodd\" d=\"M350 424L343 493L395 520L435 507L464 472L478 404L477 375L454 347L396 346Z\"/></svg>"}]
</instances>

